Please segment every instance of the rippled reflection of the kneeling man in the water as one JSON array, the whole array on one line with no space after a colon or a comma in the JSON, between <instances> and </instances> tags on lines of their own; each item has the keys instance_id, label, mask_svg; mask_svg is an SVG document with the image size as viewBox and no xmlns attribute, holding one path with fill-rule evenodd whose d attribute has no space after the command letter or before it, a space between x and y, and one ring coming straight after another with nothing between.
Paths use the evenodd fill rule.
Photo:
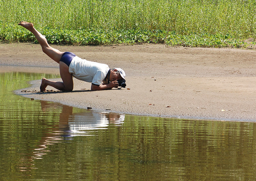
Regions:
<instances>
[{"instance_id":1,"label":"rippled reflection of the kneeling man in the water","mask_svg":"<svg viewBox=\"0 0 256 181\"><path fill-rule=\"evenodd\" d=\"M43 112L52 111L56 107L56 103L48 101L40 101L41 110ZM71 139L74 136L92 136L88 130L107 129L109 123L121 126L124 122L125 115L112 113L95 113L80 112L73 113L73 107L59 104L58 108L62 108L59 115L58 126L52 126L39 141L34 149L33 159L42 159L42 156L50 152L46 149L49 145L61 142L63 138ZM22 167L22 169L24 169Z\"/></svg>"}]
</instances>

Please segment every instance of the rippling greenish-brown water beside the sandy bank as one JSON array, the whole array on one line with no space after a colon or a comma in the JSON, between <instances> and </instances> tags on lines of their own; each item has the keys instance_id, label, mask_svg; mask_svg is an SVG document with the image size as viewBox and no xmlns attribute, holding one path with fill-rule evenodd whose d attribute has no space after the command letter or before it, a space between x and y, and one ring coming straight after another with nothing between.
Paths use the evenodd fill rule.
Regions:
<instances>
[{"instance_id":1,"label":"rippling greenish-brown water beside the sandy bank","mask_svg":"<svg viewBox=\"0 0 256 181\"><path fill-rule=\"evenodd\" d=\"M0 73L0 180L255 180L256 124L94 113L14 95Z\"/></svg>"}]
</instances>

